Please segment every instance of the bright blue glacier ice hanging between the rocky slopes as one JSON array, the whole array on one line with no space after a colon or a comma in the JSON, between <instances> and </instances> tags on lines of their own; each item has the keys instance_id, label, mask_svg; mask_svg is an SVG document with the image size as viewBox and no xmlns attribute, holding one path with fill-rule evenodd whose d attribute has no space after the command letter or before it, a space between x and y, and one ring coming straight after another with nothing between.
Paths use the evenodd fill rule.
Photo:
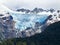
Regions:
<instances>
[{"instance_id":1,"label":"bright blue glacier ice hanging between the rocky slopes","mask_svg":"<svg viewBox=\"0 0 60 45\"><path fill-rule=\"evenodd\" d=\"M15 28L20 31L25 30L28 27L34 27L36 22L43 23L48 15L37 14L14 14L11 15L15 23Z\"/></svg>"}]
</instances>

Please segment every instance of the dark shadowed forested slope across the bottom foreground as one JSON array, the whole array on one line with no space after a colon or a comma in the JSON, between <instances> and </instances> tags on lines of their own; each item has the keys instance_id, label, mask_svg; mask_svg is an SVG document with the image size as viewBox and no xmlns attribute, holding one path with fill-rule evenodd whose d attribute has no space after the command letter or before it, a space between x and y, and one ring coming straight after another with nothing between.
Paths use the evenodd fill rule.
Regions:
<instances>
[{"instance_id":1,"label":"dark shadowed forested slope across the bottom foreground","mask_svg":"<svg viewBox=\"0 0 60 45\"><path fill-rule=\"evenodd\" d=\"M26 38L2 41L0 45L60 45L60 22L48 26L45 31Z\"/></svg>"}]
</instances>

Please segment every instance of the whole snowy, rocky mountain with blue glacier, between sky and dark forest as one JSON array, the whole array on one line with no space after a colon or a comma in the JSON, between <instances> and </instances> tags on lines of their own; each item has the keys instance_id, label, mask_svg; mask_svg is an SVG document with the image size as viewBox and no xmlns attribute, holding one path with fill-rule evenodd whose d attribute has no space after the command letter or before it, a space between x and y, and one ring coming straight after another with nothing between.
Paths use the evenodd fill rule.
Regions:
<instances>
[{"instance_id":1,"label":"whole snowy, rocky mountain with blue glacier, between sky and dark forest","mask_svg":"<svg viewBox=\"0 0 60 45\"><path fill-rule=\"evenodd\" d=\"M41 33L48 25L60 21L60 11L56 12L54 9L35 8L32 11L26 9L12 11L1 5L0 10L0 39L30 37ZM26 11L30 13L23 13Z\"/></svg>"}]
</instances>

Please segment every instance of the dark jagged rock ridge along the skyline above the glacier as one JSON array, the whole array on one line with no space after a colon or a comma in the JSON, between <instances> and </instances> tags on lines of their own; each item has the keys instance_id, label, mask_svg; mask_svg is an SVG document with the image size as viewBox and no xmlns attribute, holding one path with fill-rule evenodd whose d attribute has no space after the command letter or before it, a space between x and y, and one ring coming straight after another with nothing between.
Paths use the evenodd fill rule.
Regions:
<instances>
[{"instance_id":1,"label":"dark jagged rock ridge along the skyline above the glacier","mask_svg":"<svg viewBox=\"0 0 60 45\"><path fill-rule=\"evenodd\" d=\"M50 8L50 9L42 9L42 8L34 8L33 10L29 10L29 9L24 9L24 8L22 8L22 9L17 9L16 11L18 11L18 12L25 12L25 13L39 13L39 12L50 12L50 13L53 13L53 12L55 12L56 10L55 9L53 9L53 8ZM58 10L58 12L59 12L59 10Z\"/></svg>"}]
</instances>

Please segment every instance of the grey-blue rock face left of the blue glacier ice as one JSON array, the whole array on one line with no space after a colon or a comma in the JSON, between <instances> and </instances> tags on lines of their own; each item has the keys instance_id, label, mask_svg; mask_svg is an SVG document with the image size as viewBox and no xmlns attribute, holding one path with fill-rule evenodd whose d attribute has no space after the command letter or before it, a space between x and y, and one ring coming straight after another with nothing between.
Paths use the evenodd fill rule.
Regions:
<instances>
[{"instance_id":1,"label":"grey-blue rock face left of the blue glacier ice","mask_svg":"<svg viewBox=\"0 0 60 45\"><path fill-rule=\"evenodd\" d=\"M1 38L13 38L15 37L16 33L14 31L14 21L13 17L10 15L1 15L0 14L0 35L3 37Z\"/></svg>"}]
</instances>

